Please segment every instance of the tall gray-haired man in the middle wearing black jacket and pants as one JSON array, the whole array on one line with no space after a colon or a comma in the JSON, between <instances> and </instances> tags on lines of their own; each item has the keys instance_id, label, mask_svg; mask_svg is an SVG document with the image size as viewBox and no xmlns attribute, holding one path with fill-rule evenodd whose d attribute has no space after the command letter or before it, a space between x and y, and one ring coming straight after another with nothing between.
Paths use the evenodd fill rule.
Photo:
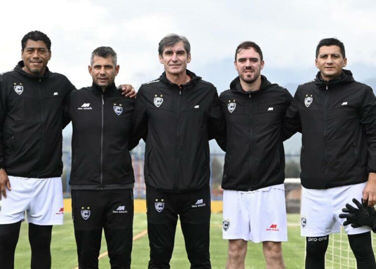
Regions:
<instances>
[{"instance_id":1,"label":"tall gray-haired man in the middle wearing black jacket and pants","mask_svg":"<svg viewBox=\"0 0 376 269\"><path fill-rule=\"evenodd\" d=\"M169 268L178 216L191 268L211 268L209 140L225 133L218 93L186 69L185 37L164 37L158 53L165 72L140 87L132 130L146 142L149 268Z\"/></svg>"}]
</instances>

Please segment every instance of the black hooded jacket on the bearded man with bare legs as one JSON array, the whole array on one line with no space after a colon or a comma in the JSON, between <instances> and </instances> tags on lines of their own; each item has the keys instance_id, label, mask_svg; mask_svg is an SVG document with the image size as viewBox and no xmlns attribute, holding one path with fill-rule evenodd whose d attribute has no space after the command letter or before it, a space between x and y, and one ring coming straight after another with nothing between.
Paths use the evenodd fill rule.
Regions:
<instances>
[{"instance_id":1,"label":"black hooded jacket on the bearded man with bare legs","mask_svg":"<svg viewBox=\"0 0 376 269\"><path fill-rule=\"evenodd\" d=\"M261 81L260 90L246 92L237 77L220 95L227 128L225 190L253 191L285 180L281 126L292 96L265 76Z\"/></svg>"}]
</instances>

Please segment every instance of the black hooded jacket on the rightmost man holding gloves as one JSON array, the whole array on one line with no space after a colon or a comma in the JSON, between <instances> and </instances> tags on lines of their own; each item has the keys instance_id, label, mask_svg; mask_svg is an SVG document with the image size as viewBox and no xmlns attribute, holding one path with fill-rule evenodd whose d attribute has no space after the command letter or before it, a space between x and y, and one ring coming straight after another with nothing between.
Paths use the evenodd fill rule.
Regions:
<instances>
[{"instance_id":1,"label":"black hooded jacket on the rightmost man holding gloves","mask_svg":"<svg viewBox=\"0 0 376 269\"><path fill-rule=\"evenodd\" d=\"M301 183L328 189L367 181L376 172L376 98L349 70L331 81L298 86L284 119L290 137L302 132Z\"/></svg>"}]
</instances>

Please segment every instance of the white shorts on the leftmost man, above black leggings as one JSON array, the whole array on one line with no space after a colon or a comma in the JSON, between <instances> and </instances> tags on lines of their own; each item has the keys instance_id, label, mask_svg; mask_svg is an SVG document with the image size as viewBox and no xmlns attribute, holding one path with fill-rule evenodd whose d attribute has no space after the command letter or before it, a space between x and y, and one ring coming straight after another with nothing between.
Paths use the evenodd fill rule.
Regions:
<instances>
[{"instance_id":1,"label":"white shorts on the leftmost man, above black leggings","mask_svg":"<svg viewBox=\"0 0 376 269\"><path fill-rule=\"evenodd\" d=\"M11 191L0 201L0 224L25 219L37 225L63 224L64 205L61 178L9 176Z\"/></svg>"}]
</instances>

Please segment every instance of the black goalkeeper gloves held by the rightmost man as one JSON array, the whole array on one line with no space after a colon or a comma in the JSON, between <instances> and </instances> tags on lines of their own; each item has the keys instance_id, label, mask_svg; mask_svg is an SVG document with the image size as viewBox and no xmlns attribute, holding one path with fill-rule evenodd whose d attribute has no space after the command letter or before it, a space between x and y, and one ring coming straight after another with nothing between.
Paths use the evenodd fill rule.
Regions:
<instances>
[{"instance_id":1,"label":"black goalkeeper gloves held by the rightmost man","mask_svg":"<svg viewBox=\"0 0 376 269\"><path fill-rule=\"evenodd\" d=\"M342 212L347 214L339 214L340 218L346 218L343 225L351 224L351 227L357 228L362 225L370 226L373 232L376 232L376 211L373 207L363 206L355 198L352 202L358 207L355 208L349 204L346 204L346 208L342 208Z\"/></svg>"}]
</instances>

